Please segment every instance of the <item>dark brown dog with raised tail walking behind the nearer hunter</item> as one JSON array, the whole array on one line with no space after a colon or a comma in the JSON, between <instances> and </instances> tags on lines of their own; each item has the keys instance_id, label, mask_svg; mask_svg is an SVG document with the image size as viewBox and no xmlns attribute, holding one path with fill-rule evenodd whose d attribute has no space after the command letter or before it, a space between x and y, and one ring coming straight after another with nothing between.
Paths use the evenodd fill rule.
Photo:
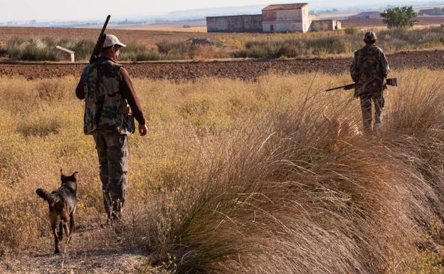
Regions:
<instances>
[{"instance_id":1,"label":"dark brown dog with raised tail walking behind the nearer hunter","mask_svg":"<svg viewBox=\"0 0 444 274\"><path fill-rule=\"evenodd\" d=\"M65 176L60 169L60 180L62 186L49 193L45 189L37 189L36 194L48 201L49 205L49 220L51 221L51 230L53 231L56 250L54 253L59 253L58 241L63 239L63 229L68 236L68 243L73 233L74 228L74 212L77 206L77 178L74 172L71 176ZM70 229L68 231L68 219ZM56 231L58 225L58 234ZM63 229L62 229L63 228Z\"/></svg>"}]
</instances>

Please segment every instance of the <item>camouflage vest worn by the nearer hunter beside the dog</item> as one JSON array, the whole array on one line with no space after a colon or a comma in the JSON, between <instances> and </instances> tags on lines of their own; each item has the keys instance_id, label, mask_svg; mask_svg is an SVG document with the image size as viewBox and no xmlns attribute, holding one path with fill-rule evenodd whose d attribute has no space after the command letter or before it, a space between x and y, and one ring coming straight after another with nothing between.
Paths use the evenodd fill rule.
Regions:
<instances>
[{"instance_id":1,"label":"camouflage vest worn by the nearer hunter beside the dog","mask_svg":"<svg viewBox=\"0 0 444 274\"><path fill-rule=\"evenodd\" d=\"M134 117L119 90L121 67L110 59L100 58L83 70L85 135L95 130L112 130L122 135L134 132Z\"/></svg>"}]
</instances>

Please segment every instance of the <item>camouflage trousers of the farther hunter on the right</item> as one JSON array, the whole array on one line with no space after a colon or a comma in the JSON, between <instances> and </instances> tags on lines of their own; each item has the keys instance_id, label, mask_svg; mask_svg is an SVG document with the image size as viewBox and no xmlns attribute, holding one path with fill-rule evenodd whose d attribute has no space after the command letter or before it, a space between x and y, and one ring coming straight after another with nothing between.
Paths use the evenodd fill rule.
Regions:
<instances>
[{"instance_id":1,"label":"camouflage trousers of the farther hunter on the right","mask_svg":"<svg viewBox=\"0 0 444 274\"><path fill-rule=\"evenodd\" d=\"M382 125L382 109L384 108L384 95L362 95L361 99L361 112L362 122L364 123L364 132L371 132L371 101L374 103L375 108L375 125L379 127Z\"/></svg>"}]
</instances>

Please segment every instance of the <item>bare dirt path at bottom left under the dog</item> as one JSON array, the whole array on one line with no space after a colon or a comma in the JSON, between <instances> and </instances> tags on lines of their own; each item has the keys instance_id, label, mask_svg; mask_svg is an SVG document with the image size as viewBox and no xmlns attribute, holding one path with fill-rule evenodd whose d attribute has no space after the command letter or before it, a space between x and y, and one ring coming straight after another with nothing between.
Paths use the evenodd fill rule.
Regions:
<instances>
[{"instance_id":1,"label":"bare dirt path at bottom left under the dog","mask_svg":"<svg viewBox=\"0 0 444 274\"><path fill-rule=\"evenodd\" d=\"M66 239L65 239L66 240ZM35 250L0 253L0 273L27 274L124 274L158 273L147 263L149 254L129 249L124 233L107 228L80 229L68 247L60 244L60 254L53 254L53 238Z\"/></svg>"}]
</instances>

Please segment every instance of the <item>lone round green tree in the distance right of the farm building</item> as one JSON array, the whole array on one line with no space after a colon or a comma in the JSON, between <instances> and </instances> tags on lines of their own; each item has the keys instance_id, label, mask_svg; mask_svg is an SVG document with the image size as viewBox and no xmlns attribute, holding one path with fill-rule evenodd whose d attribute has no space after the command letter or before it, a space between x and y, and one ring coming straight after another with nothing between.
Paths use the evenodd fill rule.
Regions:
<instances>
[{"instance_id":1,"label":"lone round green tree in the distance right of the farm building","mask_svg":"<svg viewBox=\"0 0 444 274\"><path fill-rule=\"evenodd\" d=\"M412 6L402 6L393 9L387 9L381 13L384 23L388 28L408 28L413 26L416 20L416 12Z\"/></svg>"}]
</instances>

